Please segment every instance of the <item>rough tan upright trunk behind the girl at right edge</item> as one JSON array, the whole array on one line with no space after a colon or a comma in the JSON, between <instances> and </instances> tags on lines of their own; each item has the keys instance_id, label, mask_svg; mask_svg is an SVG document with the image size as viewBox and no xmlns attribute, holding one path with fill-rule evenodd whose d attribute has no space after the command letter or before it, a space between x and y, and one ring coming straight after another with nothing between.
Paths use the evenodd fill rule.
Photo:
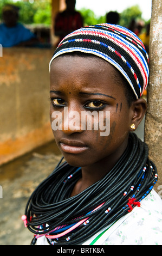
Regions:
<instances>
[{"instance_id":1,"label":"rough tan upright trunk behind the girl at right edge","mask_svg":"<svg viewBox=\"0 0 162 256\"><path fill-rule=\"evenodd\" d=\"M152 16L150 25L150 79L147 88L148 109L145 119L145 142L148 144L150 159L158 169L158 182L155 190L162 197L162 4L159 0L152 0Z\"/></svg>"}]
</instances>

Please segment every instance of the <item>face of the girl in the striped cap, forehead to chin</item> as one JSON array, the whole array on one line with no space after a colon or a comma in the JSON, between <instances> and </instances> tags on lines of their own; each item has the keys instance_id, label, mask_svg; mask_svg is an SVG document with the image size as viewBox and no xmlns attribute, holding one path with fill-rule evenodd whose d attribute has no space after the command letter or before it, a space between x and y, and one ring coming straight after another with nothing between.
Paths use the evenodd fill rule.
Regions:
<instances>
[{"instance_id":1,"label":"face of the girl in the striped cap, forehead to chin","mask_svg":"<svg viewBox=\"0 0 162 256\"><path fill-rule=\"evenodd\" d=\"M94 57L62 56L51 64L51 126L61 153L72 166L113 166L127 147L131 110L115 74L111 64ZM83 113L92 121L88 129Z\"/></svg>"}]
</instances>

